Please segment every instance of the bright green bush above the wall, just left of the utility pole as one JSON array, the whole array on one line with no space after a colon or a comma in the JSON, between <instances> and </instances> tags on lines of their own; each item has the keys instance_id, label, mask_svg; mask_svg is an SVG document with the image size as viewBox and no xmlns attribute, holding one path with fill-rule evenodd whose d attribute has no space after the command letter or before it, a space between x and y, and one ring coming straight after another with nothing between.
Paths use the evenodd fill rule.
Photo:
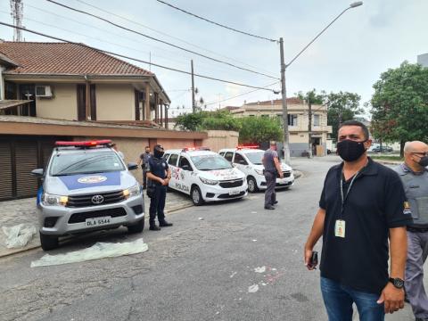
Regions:
<instances>
[{"instance_id":1,"label":"bright green bush above the wall, just left of the utility pole","mask_svg":"<svg viewBox=\"0 0 428 321\"><path fill-rule=\"evenodd\" d=\"M261 143L270 140L282 141L283 129L280 119L272 117L243 117L239 119L240 143Z\"/></svg>"}]
</instances>

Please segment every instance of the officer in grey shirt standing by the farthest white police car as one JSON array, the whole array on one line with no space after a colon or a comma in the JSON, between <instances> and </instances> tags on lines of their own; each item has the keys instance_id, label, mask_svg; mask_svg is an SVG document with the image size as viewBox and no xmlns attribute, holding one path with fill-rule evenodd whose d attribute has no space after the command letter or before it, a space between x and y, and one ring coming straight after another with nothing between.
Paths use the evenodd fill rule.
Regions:
<instances>
[{"instance_id":1,"label":"officer in grey shirt standing by the farthest white police car","mask_svg":"<svg viewBox=\"0 0 428 321\"><path fill-rule=\"evenodd\" d=\"M278 153L276 152L276 142L270 142L270 148L263 155L263 166L265 167L264 175L267 185L265 192L265 210L275 210L274 204L277 203L275 194L276 177L278 177L278 175L280 178L284 177Z\"/></svg>"}]
</instances>

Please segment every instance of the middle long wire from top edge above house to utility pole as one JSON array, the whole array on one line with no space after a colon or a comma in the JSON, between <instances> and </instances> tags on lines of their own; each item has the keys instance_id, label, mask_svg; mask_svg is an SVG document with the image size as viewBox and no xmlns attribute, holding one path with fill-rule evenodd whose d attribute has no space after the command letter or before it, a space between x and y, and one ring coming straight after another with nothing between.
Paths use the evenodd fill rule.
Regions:
<instances>
[{"instance_id":1,"label":"middle long wire from top edge above house to utility pole","mask_svg":"<svg viewBox=\"0 0 428 321\"><path fill-rule=\"evenodd\" d=\"M56 5L62 6L63 8L69 9L69 10L74 11L74 12L79 12L79 13L86 14L86 15L91 16L91 17L94 17L94 18L96 18L96 19L98 19L98 20L101 20L101 21L104 21L104 22L110 23L112 26L115 26L115 27L117 27L117 28L124 29L124 30L127 30L127 31L129 31L129 32L133 32L133 33L135 33L135 34L137 34L137 35L140 35L140 36L143 36L143 37L147 37L147 38L152 39L152 40L154 40L154 41L160 42L161 44L164 44L164 45L170 45L170 46L173 46L173 47L175 47L175 48L177 48L177 49L184 50L184 51L186 51L186 52L188 52L188 53L193 53L193 54L199 55L199 56L201 56L201 57L204 57L204 58L206 58L206 59L210 59L210 60L211 60L211 61L213 61L213 62L224 63L224 64L226 64L226 65L228 65L228 66L231 66L231 67L234 67L234 68L237 68L237 69L240 69L240 70L246 70L246 71L249 71L249 72L251 72L251 73L258 74L258 75L261 75L261 76L265 76L265 77L268 77L268 78L278 79L278 78L276 78L276 77L269 76L268 74L265 74L265 73L262 73L262 72L259 72L259 71L255 71L255 70L250 70L250 69L247 69L247 68L239 67L239 66L237 66L237 65L235 65L235 64L233 64L233 63L230 63L230 62L224 62L224 61L218 60L218 59L216 59L216 58L212 58L212 57L210 57L210 56L207 56L207 55L205 55L205 54L203 54L203 53L196 53L196 52L194 52L193 50L186 49L186 48L184 48L184 47L182 47L182 46L174 45L174 44L171 44L171 43L169 43L169 42L167 42L167 41L164 41L164 40L161 40L161 39L158 39L158 38L152 37L152 36L145 35L144 33L141 33L141 32L139 32L139 31L136 31L136 30L133 30L133 29L129 29L129 28L127 28L127 27L123 27L123 26L121 26L121 25L119 25L119 24L117 24L117 23L115 23L115 22L109 21L109 20L107 20L107 19L105 19L105 18L103 18L103 17L97 16L97 15L95 15L95 14L93 14L93 13L85 12L85 11L83 11L83 10L78 10L78 9L75 9L75 8L70 7L69 5L60 4L60 3L56 2L56 1L53 1L53 0L46 0L46 1L47 1L47 2L50 2L50 3L52 3L52 4L56 4Z\"/></svg>"}]
</instances>

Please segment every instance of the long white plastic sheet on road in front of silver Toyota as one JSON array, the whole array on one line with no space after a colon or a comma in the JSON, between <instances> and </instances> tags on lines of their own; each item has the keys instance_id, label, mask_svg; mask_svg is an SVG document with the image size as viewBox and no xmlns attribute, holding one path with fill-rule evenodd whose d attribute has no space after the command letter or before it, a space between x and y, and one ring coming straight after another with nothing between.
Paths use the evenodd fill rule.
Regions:
<instances>
[{"instance_id":1,"label":"long white plastic sheet on road in front of silver Toyota","mask_svg":"<svg viewBox=\"0 0 428 321\"><path fill-rule=\"evenodd\" d=\"M127 243L95 243L84 250L57 255L45 254L41 259L31 262L31 268L83 262L91 259L116 258L122 255L142 253L148 249L149 247L142 238Z\"/></svg>"}]
</instances>

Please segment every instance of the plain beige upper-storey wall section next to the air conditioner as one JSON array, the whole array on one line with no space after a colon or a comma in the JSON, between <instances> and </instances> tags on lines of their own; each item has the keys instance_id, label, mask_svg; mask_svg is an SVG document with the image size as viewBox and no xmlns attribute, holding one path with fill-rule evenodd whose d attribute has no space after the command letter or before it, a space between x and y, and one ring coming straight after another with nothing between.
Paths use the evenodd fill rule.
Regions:
<instances>
[{"instance_id":1,"label":"plain beige upper-storey wall section next to the air conditioner","mask_svg":"<svg viewBox=\"0 0 428 321\"><path fill-rule=\"evenodd\" d=\"M78 119L76 84L53 84L53 98L37 97L37 117L50 119Z\"/></svg>"}]
</instances>

